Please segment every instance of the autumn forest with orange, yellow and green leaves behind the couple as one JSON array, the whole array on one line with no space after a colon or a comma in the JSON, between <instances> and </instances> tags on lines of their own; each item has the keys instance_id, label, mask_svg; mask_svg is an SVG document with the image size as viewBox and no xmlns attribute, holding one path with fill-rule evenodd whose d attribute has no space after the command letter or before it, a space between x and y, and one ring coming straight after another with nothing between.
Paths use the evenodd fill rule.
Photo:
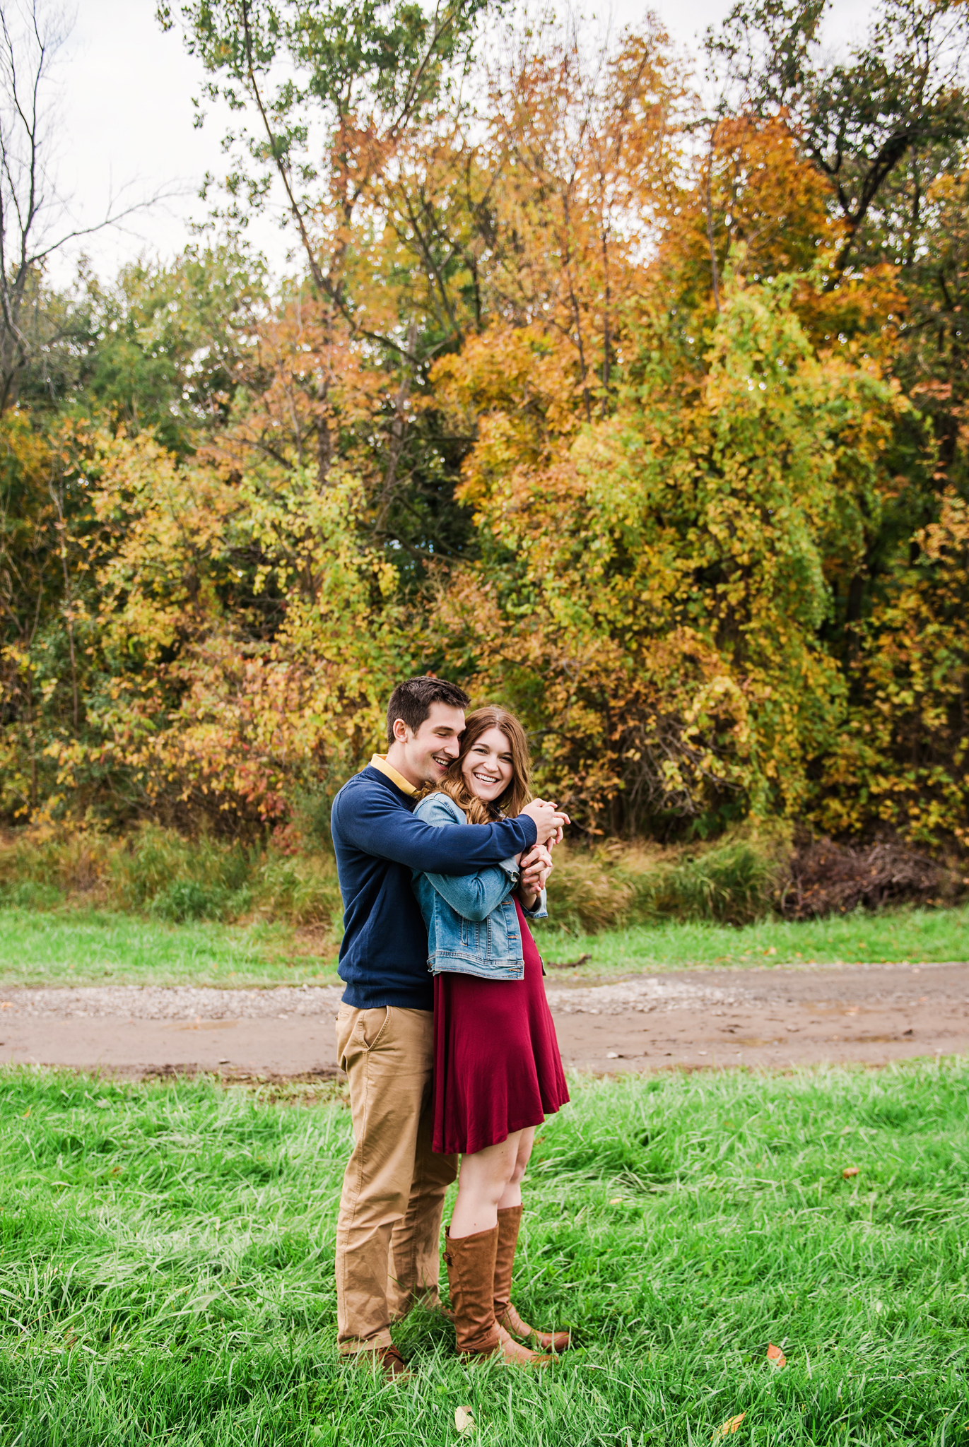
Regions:
<instances>
[{"instance_id":1,"label":"autumn forest with orange, yellow and green leaves behind the couple","mask_svg":"<svg viewBox=\"0 0 969 1447\"><path fill-rule=\"evenodd\" d=\"M239 117L213 226L68 288L42 13L7 33L7 825L322 848L433 671L590 841L962 873L969 13L882 0L833 55L824 12L742 0L691 59L649 14L162 4Z\"/></svg>"}]
</instances>

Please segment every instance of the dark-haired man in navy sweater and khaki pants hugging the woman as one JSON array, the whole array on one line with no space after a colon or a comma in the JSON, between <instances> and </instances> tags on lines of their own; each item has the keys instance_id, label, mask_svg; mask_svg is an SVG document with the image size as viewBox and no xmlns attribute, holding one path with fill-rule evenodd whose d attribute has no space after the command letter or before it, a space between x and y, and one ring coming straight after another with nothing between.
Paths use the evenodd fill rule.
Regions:
<instances>
[{"instance_id":1,"label":"dark-haired man in navy sweater and khaki pants hugging the woman","mask_svg":"<svg viewBox=\"0 0 969 1447\"><path fill-rule=\"evenodd\" d=\"M417 796L458 757L468 702L443 679L398 684L387 754L343 784L332 810L346 928L336 1040L355 1137L336 1227L337 1344L368 1353L388 1379L406 1372L391 1320L419 1299L439 1302L440 1217L456 1175L456 1159L430 1149L435 994L411 871L469 874L545 844L568 822L542 800L492 825L414 819Z\"/></svg>"}]
</instances>

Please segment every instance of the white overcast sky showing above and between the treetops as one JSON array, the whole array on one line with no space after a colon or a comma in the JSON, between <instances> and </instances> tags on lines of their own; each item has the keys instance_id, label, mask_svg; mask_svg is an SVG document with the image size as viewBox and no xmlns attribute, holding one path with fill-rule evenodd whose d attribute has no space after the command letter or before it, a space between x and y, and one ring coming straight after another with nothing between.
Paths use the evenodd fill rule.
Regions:
<instances>
[{"instance_id":1,"label":"white overcast sky showing above and between the treetops","mask_svg":"<svg viewBox=\"0 0 969 1447\"><path fill-rule=\"evenodd\" d=\"M656 0L652 6L684 48L697 49L697 38L720 20L731 0ZM872 0L837 0L830 41L863 32ZM175 6L172 6L175 9ZM616 0L617 26L634 23L646 7L637 0ZM207 207L197 198L206 171L225 169L223 126L211 116L201 130L193 127L193 96L204 80L201 65L185 54L178 29L164 33L155 20L155 0L78 0L74 30L61 52L61 135L58 179L72 198L72 218L91 224L112 195L145 197L161 190L181 194L127 223L126 230L103 232L83 245L96 271L109 278L139 253L174 256L190 239L191 220L204 220ZM269 220L253 229L259 245L277 266L284 265L284 240ZM72 271L65 256L54 276L67 281Z\"/></svg>"}]
</instances>

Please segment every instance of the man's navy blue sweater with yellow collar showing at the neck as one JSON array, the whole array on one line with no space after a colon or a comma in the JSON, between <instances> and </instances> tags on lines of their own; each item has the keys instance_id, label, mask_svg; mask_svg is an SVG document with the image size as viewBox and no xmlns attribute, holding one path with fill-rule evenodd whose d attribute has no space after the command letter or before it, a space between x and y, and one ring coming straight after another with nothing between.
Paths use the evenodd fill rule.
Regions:
<instances>
[{"instance_id":1,"label":"man's navy blue sweater with yellow collar showing at the neck","mask_svg":"<svg viewBox=\"0 0 969 1447\"><path fill-rule=\"evenodd\" d=\"M346 928L339 974L346 983L345 1003L361 1010L435 1007L427 929L410 887L411 870L472 874L536 841L527 815L446 826L414 819L416 803L371 765L333 800L330 828Z\"/></svg>"}]
</instances>

